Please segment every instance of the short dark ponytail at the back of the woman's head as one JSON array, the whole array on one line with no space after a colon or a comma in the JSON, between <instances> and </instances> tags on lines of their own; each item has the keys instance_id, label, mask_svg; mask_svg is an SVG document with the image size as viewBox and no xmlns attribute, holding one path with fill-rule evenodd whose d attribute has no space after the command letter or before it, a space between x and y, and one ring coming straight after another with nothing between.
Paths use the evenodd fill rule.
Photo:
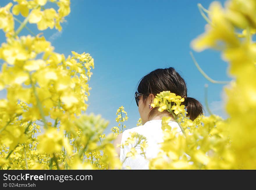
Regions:
<instances>
[{"instance_id":1,"label":"short dark ponytail at the back of the woman's head","mask_svg":"<svg viewBox=\"0 0 256 190\"><path fill-rule=\"evenodd\" d=\"M186 97L184 103L188 112L186 117L189 117L192 121L203 113L203 106L197 99Z\"/></svg>"}]
</instances>

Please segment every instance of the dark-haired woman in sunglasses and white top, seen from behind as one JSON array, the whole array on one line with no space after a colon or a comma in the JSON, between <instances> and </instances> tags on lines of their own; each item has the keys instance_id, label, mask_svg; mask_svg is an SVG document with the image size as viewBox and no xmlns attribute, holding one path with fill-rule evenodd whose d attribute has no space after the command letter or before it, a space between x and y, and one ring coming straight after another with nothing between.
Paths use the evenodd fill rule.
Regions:
<instances>
[{"instance_id":1,"label":"dark-haired woman in sunglasses and white top, seen from behind","mask_svg":"<svg viewBox=\"0 0 256 190\"><path fill-rule=\"evenodd\" d=\"M160 151L160 142L163 142L163 133L161 129L161 120L163 116L170 116L172 120L168 123L172 128L177 127L179 133L182 134L181 129L171 113L167 110L163 112L158 111L158 107L152 108L150 105L155 96L162 91L170 91L176 95L184 97L187 117L194 120L203 113L202 104L191 97L187 97L187 87L184 79L175 71L173 67L165 69L156 69L145 75L138 85L135 92L135 100L138 106L138 111L141 116L142 126L137 126L132 129L127 129L119 134L113 142L121 162L124 162L122 168L129 166L131 169L148 169L149 159L157 156ZM147 138L148 147L145 149L145 156L137 154L136 158L126 158L126 154L131 150L131 144L124 146L124 148L117 147L117 144L122 144L130 136L129 132L137 132ZM139 149L138 149L139 152Z\"/></svg>"}]
</instances>

